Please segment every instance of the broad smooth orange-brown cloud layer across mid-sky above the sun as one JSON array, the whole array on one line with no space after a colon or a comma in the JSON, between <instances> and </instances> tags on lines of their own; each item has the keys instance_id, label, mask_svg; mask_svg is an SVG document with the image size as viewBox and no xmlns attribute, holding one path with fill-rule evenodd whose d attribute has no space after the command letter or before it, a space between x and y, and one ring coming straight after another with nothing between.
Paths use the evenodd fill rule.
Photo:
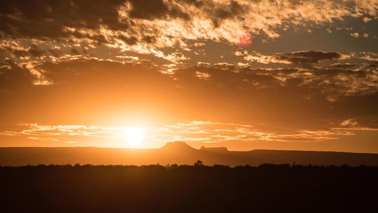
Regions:
<instances>
[{"instance_id":1,"label":"broad smooth orange-brown cloud layer across mid-sky above the sun","mask_svg":"<svg viewBox=\"0 0 378 213\"><path fill-rule=\"evenodd\" d=\"M336 55L307 54L290 56L327 61ZM162 122L196 117L223 123L264 123L272 132L282 125L329 130L358 117L366 117L359 127L377 123L377 67L363 63L307 68L237 63L160 67L134 56L114 57L117 61L76 57L33 67L43 70L41 78L50 85L34 85L36 77L27 65L3 64L0 102L9 104L1 108L1 123L98 125L135 116ZM163 68L170 72L163 73Z\"/></svg>"}]
</instances>

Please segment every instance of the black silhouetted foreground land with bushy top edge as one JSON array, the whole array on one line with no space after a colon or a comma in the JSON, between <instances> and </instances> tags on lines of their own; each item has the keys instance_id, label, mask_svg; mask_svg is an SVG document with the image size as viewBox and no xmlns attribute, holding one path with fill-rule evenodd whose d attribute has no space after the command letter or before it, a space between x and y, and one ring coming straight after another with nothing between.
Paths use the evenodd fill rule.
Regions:
<instances>
[{"instance_id":1,"label":"black silhouetted foreground land with bushy top edge","mask_svg":"<svg viewBox=\"0 0 378 213\"><path fill-rule=\"evenodd\" d=\"M378 212L378 167L0 167L0 212Z\"/></svg>"}]
</instances>

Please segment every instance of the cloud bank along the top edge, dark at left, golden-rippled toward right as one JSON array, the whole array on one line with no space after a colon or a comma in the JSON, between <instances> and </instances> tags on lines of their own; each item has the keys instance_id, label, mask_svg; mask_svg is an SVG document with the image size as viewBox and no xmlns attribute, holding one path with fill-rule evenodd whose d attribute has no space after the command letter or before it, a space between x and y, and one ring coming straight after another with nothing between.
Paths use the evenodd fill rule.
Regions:
<instances>
[{"instance_id":1,"label":"cloud bank along the top edge, dark at left, golden-rippled toward right","mask_svg":"<svg viewBox=\"0 0 378 213\"><path fill-rule=\"evenodd\" d=\"M346 17L368 20L366 17L376 16L377 11L377 3L365 0L155 0L148 3L145 0L31 3L15 0L2 4L0 31L2 37L12 39L88 42L120 49L154 44L156 50L178 44L185 48L188 42L197 39L237 44L242 36L250 34L264 33L273 39L280 36L283 23L297 28Z\"/></svg>"}]
</instances>

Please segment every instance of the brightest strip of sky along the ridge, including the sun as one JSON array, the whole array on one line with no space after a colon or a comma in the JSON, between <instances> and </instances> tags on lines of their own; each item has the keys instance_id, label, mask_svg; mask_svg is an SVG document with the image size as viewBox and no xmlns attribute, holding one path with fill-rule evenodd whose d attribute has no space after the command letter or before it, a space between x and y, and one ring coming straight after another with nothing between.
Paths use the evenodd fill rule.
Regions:
<instances>
[{"instance_id":1,"label":"brightest strip of sky along the ridge, including the sun","mask_svg":"<svg viewBox=\"0 0 378 213\"><path fill-rule=\"evenodd\" d=\"M20 131L2 131L0 136L19 138L11 147L25 147L25 141L48 142L52 147L160 148L166 143L183 141L195 148L228 147L230 151L252 149L323 150L372 152L351 146L348 137L373 137L377 129L332 128L298 130L287 133L262 131L261 126L208 121L178 122L154 127L85 126L85 125L18 125ZM274 145L274 147L272 147ZM41 145L40 145L41 146Z\"/></svg>"}]
</instances>

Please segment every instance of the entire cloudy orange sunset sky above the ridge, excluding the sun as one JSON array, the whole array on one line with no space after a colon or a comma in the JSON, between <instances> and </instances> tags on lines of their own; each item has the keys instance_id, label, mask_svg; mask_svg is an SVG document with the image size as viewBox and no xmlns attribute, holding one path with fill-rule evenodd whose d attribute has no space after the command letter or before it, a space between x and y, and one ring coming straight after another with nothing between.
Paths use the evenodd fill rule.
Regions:
<instances>
[{"instance_id":1,"label":"entire cloudy orange sunset sky above the ridge, excluding the sun","mask_svg":"<svg viewBox=\"0 0 378 213\"><path fill-rule=\"evenodd\" d=\"M378 0L0 4L0 147L378 153Z\"/></svg>"}]
</instances>

